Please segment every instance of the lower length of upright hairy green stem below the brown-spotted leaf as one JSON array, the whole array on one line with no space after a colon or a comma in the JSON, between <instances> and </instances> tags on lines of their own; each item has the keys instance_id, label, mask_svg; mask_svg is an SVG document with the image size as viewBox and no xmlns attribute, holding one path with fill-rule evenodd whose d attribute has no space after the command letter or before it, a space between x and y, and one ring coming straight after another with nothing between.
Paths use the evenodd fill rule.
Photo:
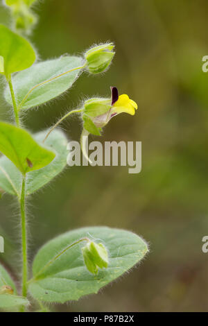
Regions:
<instances>
[{"instance_id":1,"label":"lower length of upright hairy green stem below the brown-spotted leaf","mask_svg":"<svg viewBox=\"0 0 208 326\"><path fill-rule=\"evenodd\" d=\"M22 178L20 209L21 209L21 246L22 246L22 296L27 296L28 280L28 259L27 259L27 239L26 239L26 177Z\"/></svg>"}]
</instances>

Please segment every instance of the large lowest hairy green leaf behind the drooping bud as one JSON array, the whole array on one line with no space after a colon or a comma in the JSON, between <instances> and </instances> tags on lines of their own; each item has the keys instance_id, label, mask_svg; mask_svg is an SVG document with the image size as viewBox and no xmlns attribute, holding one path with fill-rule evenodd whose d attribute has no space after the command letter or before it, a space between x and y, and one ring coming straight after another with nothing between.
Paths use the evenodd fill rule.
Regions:
<instances>
[{"instance_id":1,"label":"large lowest hairy green leaf behind the drooping bud","mask_svg":"<svg viewBox=\"0 0 208 326\"><path fill-rule=\"evenodd\" d=\"M98 239L108 250L109 266L92 275L83 262L81 248L85 243L67 248L81 238ZM148 252L146 242L132 232L112 228L73 230L44 245L33 262L29 290L37 300L66 302L97 293L106 284L128 271ZM54 260L55 257L58 257Z\"/></svg>"}]
</instances>

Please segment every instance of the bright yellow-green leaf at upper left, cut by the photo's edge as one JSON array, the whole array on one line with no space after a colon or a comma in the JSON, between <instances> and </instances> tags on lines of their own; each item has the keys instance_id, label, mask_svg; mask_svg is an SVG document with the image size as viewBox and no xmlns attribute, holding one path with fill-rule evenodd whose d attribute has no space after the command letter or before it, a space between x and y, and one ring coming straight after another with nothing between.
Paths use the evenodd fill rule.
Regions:
<instances>
[{"instance_id":1,"label":"bright yellow-green leaf at upper left, cut by the photo's edge","mask_svg":"<svg viewBox=\"0 0 208 326\"><path fill-rule=\"evenodd\" d=\"M35 61L35 51L23 37L0 24L0 55L3 57L4 74L27 69Z\"/></svg>"}]
</instances>

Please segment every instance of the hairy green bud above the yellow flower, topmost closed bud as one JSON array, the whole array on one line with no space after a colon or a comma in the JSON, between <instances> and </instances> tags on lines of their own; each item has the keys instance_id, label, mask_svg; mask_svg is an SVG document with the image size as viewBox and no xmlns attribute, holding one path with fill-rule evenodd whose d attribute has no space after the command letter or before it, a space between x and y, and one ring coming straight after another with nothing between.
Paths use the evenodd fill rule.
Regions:
<instances>
[{"instance_id":1,"label":"hairy green bud above the yellow flower, topmost closed bud","mask_svg":"<svg viewBox=\"0 0 208 326\"><path fill-rule=\"evenodd\" d=\"M92 74L99 74L107 69L112 62L115 52L113 43L94 46L85 53L87 68Z\"/></svg>"}]
</instances>

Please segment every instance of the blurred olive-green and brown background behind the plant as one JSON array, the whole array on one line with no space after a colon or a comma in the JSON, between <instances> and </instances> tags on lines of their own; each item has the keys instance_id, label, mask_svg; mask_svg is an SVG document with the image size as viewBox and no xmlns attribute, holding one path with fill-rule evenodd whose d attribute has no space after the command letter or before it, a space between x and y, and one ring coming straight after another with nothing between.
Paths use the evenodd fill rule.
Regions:
<instances>
[{"instance_id":1,"label":"blurred olive-green and brown background behind the plant","mask_svg":"<svg viewBox=\"0 0 208 326\"><path fill-rule=\"evenodd\" d=\"M9 26L8 10L0 10ZM132 230L150 244L131 273L98 295L54 310L207 311L208 254L201 249L208 233L207 0L45 0L35 11L40 20L31 41L40 59L82 53L107 40L116 44L116 56L106 74L84 74L68 94L30 110L26 128L49 127L84 96L110 96L114 85L139 109L135 117L112 119L102 141L142 141L143 168L132 175L123 166L68 168L32 196L31 259L51 237L85 225ZM1 96L1 119L10 119L6 109ZM78 119L63 128L79 139ZM0 234L10 239L1 260L17 272L19 217L10 196L1 199L0 216Z\"/></svg>"}]
</instances>

